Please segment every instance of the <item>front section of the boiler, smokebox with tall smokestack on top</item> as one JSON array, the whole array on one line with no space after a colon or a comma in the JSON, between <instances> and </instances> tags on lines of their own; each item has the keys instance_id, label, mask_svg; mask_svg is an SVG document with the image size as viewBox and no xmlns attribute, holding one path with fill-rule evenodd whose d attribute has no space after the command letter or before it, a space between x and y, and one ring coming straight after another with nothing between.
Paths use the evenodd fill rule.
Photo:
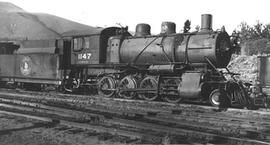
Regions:
<instances>
[{"instance_id":1,"label":"front section of the boiler, smokebox with tall smokestack on top","mask_svg":"<svg viewBox=\"0 0 270 145\"><path fill-rule=\"evenodd\" d=\"M224 28L220 31L212 30L211 15L202 15L199 32L183 35L183 42L176 48L176 61L204 65L210 60L217 68L228 65L233 52L230 36Z\"/></svg>"}]
</instances>

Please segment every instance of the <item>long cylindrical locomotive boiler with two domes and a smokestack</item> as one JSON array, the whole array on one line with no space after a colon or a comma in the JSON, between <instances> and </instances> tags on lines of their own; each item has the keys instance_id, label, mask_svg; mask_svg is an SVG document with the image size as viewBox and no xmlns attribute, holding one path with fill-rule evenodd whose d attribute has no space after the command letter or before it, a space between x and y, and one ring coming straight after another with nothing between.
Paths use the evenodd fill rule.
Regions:
<instances>
[{"instance_id":1,"label":"long cylindrical locomotive boiler with two domes and a smokestack","mask_svg":"<svg viewBox=\"0 0 270 145\"><path fill-rule=\"evenodd\" d=\"M203 65L208 63L207 57L216 67L224 68L233 52L230 37L224 30L213 31L211 21L211 15L203 15L201 31L178 34L174 23L165 22L162 28L166 30L154 36L149 35L147 24L139 24L135 36L123 40L118 48L120 63Z\"/></svg>"}]
</instances>

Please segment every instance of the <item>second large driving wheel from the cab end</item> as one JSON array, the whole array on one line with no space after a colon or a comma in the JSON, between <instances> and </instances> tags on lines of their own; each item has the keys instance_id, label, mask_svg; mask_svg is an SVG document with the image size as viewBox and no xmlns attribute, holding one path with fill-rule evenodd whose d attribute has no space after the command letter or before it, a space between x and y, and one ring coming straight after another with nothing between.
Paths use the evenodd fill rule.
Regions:
<instances>
[{"instance_id":1,"label":"second large driving wheel from the cab end","mask_svg":"<svg viewBox=\"0 0 270 145\"><path fill-rule=\"evenodd\" d=\"M132 99L135 98L137 93L135 91L125 91L124 89L136 89L138 87L136 80L132 76L124 77L120 83L120 91L118 95L122 98ZM122 89L122 90L121 90Z\"/></svg>"}]
</instances>

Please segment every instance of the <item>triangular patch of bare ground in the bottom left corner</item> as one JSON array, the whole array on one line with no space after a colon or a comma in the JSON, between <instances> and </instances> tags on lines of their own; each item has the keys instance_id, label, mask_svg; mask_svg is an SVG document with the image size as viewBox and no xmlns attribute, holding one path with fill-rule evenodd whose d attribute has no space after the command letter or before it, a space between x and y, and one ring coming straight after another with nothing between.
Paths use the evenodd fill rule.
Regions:
<instances>
[{"instance_id":1,"label":"triangular patch of bare ground in the bottom left corner","mask_svg":"<svg viewBox=\"0 0 270 145\"><path fill-rule=\"evenodd\" d=\"M140 143L140 141L0 114L0 145L118 145L129 143Z\"/></svg>"}]
</instances>

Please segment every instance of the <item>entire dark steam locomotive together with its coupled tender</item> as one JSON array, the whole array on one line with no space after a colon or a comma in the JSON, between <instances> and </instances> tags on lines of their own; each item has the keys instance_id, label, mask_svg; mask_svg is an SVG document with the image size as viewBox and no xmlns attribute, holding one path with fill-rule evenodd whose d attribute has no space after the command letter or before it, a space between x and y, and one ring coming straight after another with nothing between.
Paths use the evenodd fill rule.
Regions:
<instances>
[{"instance_id":1,"label":"entire dark steam locomotive together with its coupled tender","mask_svg":"<svg viewBox=\"0 0 270 145\"><path fill-rule=\"evenodd\" d=\"M97 90L104 97L172 103L195 99L218 106L224 93L231 105L254 102L244 83L224 77L235 75L226 66L237 38L225 28L213 31L210 14L202 15L199 31L176 33L175 28L163 22L161 33L151 35L150 25L138 24L134 36L127 28L108 27L24 41L2 48L0 78L20 87Z\"/></svg>"}]
</instances>

